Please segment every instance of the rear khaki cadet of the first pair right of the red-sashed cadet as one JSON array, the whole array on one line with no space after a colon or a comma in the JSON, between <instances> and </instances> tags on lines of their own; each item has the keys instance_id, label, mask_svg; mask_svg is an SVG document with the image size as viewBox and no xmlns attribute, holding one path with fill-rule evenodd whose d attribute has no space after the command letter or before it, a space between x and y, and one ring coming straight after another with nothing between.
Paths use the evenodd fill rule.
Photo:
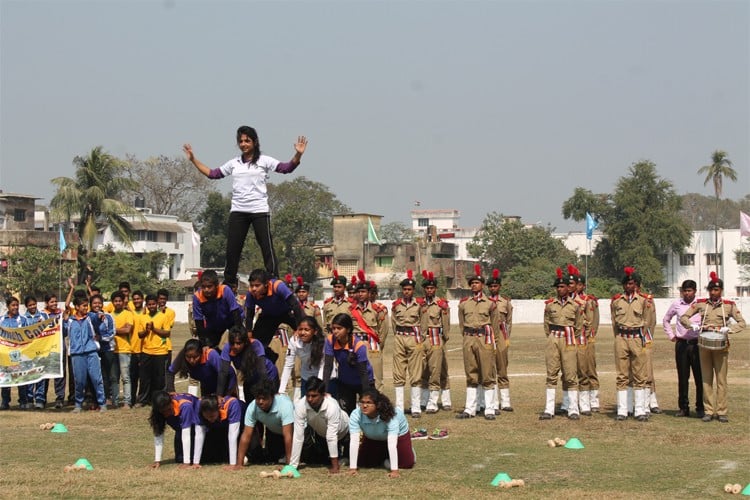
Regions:
<instances>
[{"instance_id":1,"label":"rear khaki cadet of the first pair right of the red-sashed cadet","mask_svg":"<svg viewBox=\"0 0 750 500\"><path fill-rule=\"evenodd\" d=\"M433 273L422 271L424 298L417 299L422 307L422 332L424 342L425 369L422 375L422 402L428 414L437 413L438 398L443 410L450 411L451 388L448 377L448 359L445 356L445 343L451 329L451 315L448 301L435 296L437 281ZM425 392L427 397L425 398Z\"/></svg>"}]
</instances>

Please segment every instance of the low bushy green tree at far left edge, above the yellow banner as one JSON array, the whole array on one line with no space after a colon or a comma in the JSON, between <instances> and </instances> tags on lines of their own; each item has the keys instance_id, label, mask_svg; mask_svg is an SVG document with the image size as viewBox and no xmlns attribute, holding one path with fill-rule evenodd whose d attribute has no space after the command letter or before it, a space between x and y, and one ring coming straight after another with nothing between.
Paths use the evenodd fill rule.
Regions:
<instances>
[{"instance_id":1,"label":"low bushy green tree at far left edge, above the yellow banner","mask_svg":"<svg viewBox=\"0 0 750 500\"><path fill-rule=\"evenodd\" d=\"M0 274L0 288L21 299L33 295L41 300L47 293L67 291L67 277L75 272L71 262L63 261L60 267L60 252L55 248L22 247L6 258L8 270Z\"/></svg>"}]
</instances>

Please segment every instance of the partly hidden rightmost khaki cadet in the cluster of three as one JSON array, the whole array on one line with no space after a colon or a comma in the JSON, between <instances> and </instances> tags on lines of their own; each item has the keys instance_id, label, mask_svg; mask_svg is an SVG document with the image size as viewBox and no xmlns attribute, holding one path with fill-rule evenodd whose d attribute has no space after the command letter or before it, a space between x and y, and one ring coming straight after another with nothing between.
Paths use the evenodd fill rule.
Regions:
<instances>
[{"instance_id":1,"label":"partly hidden rightmost khaki cadet in the cluster of three","mask_svg":"<svg viewBox=\"0 0 750 500\"><path fill-rule=\"evenodd\" d=\"M578 401L582 415L599 413L599 374L596 371L596 333L599 331L599 301L586 293L586 278L577 275L576 295L584 301L583 337L578 350Z\"/></svg>"}]
</instances>

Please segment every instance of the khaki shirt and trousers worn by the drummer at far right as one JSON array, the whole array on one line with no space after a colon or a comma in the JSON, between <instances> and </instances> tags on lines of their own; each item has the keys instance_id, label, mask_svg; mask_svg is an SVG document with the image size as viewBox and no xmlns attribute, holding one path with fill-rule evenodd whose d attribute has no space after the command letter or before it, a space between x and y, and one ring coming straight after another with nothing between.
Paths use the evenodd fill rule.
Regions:
<instances>
[{"instance_id":1,"label":"khaki shirt and trousers worn by the drummer at far right","mask_svg":"<svg viewBox=\"0 0 750 500\"><path fill-rule=\"evenodd\" d=\"M718 331L720 328L729 328L728 333L734 334L742 331L747 325L742 317L737 304L731 300L711 302L707 299L698 299L680 316L680 323L685 328L690 328L690 317L694 314L701 315L702 331ZM729 319L735 323L729 325ZM699 344L700 346L700 344ZM727 415L727 370L729 362L729 339L724 349L706 349L700 347L701 375L703 376L703 406L706 416ZM714 394L714 377L716 377L716 393Z\"/></svg>"}]
</instances>

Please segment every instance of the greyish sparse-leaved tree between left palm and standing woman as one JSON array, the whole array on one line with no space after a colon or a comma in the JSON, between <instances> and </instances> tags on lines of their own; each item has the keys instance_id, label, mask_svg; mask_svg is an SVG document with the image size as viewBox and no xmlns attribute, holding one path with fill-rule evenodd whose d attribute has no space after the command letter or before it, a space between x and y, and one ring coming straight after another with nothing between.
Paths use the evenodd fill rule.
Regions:
<instances>
[{"instance_id":1,"label":"greyish sparse-leaved tree between left palm and standing woman","mask_svg":"<svg viewBox=\"0 0 750 500\"><path fill-rule=\"evenodd\" d=\"M195 221L206 196L216 191L212 181L184 157L139 160L127 156L123 173L134 182L127 193L130 204L141 197L154 213L176 215L183 221Z\"/></svg>"}]
</instances>

